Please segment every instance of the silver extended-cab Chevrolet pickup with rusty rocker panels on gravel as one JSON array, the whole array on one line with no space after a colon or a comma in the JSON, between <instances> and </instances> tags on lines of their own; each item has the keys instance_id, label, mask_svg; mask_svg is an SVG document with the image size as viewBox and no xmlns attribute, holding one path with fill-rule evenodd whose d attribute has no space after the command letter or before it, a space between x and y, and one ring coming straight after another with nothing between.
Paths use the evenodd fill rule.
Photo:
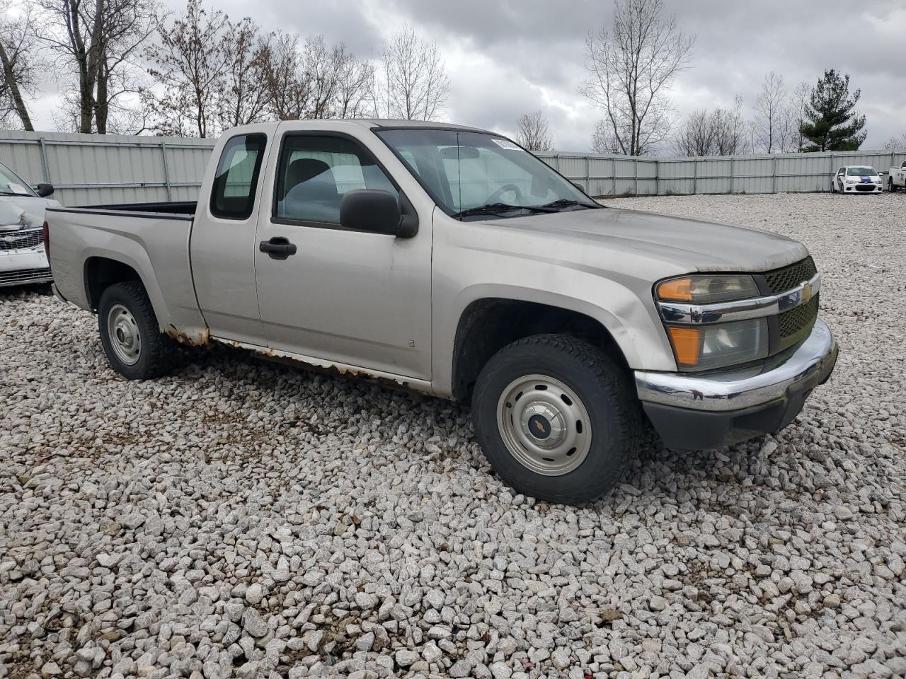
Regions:
<instances>
[{"instance_id":1,"label":"silver extended-cab Chevrolet pickup with rusty rocker panels on gravel","mask_svg":"<svg viewBox=\"0 0 906 679\"><path fill-rule=\"evenodd\" d=\"M802 244L601 206L483 129L232 129L197 204L47 223L57 295L126 378L220 342L458 399L496 473L552 502L606 493L649 425L680 449L786 426L837 356Z\"/></svg>"}]
</instances>

